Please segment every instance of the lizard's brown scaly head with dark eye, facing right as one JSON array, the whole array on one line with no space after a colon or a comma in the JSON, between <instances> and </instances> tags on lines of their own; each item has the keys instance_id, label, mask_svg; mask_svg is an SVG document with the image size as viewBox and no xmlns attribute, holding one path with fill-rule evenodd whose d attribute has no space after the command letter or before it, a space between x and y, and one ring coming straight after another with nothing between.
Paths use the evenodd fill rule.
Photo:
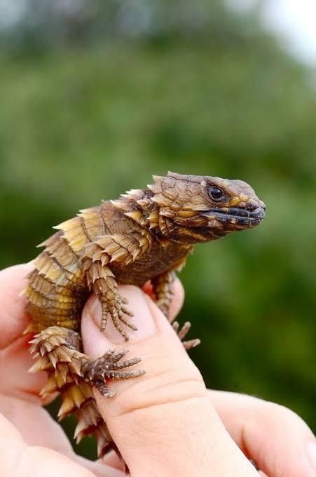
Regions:
<instances>
[{"instance_id":1,"label":"lizard's brown scaly head with dark eye, facing right","mask_svg":"<svg viewBox=\"0 0 316 477\"><path fill-rule=\"evenodd\" d=\"M150 228L173 240L196 243L260 224L266 206L241 180L168 173L149 185L156 205Z\"/></svg>"}]
</instances>

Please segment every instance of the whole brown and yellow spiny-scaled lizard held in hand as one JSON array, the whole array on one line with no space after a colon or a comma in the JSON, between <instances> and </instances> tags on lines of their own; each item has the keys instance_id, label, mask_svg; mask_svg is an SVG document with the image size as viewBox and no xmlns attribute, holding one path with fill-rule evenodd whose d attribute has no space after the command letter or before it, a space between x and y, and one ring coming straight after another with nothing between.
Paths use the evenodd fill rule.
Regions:
<instances>
[{"instance_id":1,"label":"whole brown and yellow spiny-scaled lizard held in hand","mask_svg":"<svg viewBox=\"0 0 316 477\"><path fill-rule=\"evenodd\" d=\"M60 392L60 419L74 413L77 441L95 434L99 455L115 444L92 387L111 397L107 380L144 371L124 370L140 361L121 361L124 350L109 350L97 360L83 354L79 329L89 293L102 305L101 330L110 318L128 340L126 328L135 330L135 325L127 300L118 293L119 283L142 286L151 281L158 307L167 316L174 271L184 266L193 245L255 227L264 217L264 203L245 182L176 173L153 180L147 189L81 210L55 227L57 233L41 244L45 249L34 260L25 289L32 317L26 332L38 333L31 351L39 359L31 371L48 371L41 394ZM190 323L179 330L174 322L173 328L183 340ZM184 342L184 347L198 342Z\"/></svg>"}]
</instances>

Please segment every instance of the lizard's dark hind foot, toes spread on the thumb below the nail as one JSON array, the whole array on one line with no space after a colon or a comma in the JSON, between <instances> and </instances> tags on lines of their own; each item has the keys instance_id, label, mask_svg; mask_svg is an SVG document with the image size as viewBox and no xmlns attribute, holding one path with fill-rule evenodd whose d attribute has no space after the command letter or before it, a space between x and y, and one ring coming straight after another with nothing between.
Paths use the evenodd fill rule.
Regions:
<instances>
[{"instance_id":1,"label":"lizard's dark hind foot, toes spread on the thumb below the nail","mask_svg":"<svg viewBox=\"0 0 316 477\"><path fill-rule=\"evenodd\" d=\"M82 369L83 379L95 386L102 396L113 398L115 393L107 387L107 379L129 379L142 376L145 372L144 370L121 371L142 361L141 358L132 358L119 362L126 354L128 354L126 349L121 351L109 349L101 358L86 361Z\"/></svg>"}]
</instances>

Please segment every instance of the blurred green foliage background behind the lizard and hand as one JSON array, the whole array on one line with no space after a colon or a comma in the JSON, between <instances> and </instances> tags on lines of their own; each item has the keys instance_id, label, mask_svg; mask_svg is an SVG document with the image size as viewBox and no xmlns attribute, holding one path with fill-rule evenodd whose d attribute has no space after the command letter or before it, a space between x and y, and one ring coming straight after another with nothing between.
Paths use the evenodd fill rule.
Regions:
<instances>
[{"instance_id":1,"label":"blurred green foliage background behind the lizard and hand","mask_svg":"<svg viewBox=\"0 0 316 477\"><path fill-rule=\"evenodd\" d=\"M191 356L208 387L287 405L315 431L315 72L263 31L259 6L24 5L0 25L1 267L152 174L249 182L266 220L196 248L180 321L202 337ZM78 449L95 455L88 438Z\"/></svg>"}]
</instances>

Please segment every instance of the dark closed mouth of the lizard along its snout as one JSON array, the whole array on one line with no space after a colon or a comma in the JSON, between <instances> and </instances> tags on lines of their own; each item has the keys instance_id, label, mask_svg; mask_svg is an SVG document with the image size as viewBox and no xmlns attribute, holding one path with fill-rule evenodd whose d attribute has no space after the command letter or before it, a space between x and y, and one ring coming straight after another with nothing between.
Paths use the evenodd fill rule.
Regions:
<instances>
[{"instance_id":1,"label":"dark closed mouth of the lizard along its snout","mask_svg":"<svg viewBox=\"0 0 316 477\"><path fill-rule=\"evenodd\" d=\"M202 215L209 219L219 220L219 222L228 222L242 227L254 227L263 220L265 209L263 207L257 207L254 210L238 207L214 207Z\"/></svg>"}]
</instances>

